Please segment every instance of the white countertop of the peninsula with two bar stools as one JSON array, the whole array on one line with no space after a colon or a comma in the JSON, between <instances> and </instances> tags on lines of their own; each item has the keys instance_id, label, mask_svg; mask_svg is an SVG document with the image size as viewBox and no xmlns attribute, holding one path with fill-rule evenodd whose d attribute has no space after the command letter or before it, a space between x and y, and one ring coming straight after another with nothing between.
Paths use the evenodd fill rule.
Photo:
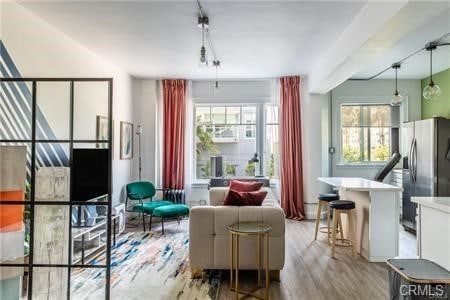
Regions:
<instances>
[{"instance_id":1,"label":"white countertop of the peninsula with two bar stools","mask_svg":"<svg viewBox=\"0 0 450 300\"><path fill-rule=\"evenodd\" d=\"M401 187L360 177L319 177L319 180L346 191L398 191Z\"/></svg>"}]
</instances>

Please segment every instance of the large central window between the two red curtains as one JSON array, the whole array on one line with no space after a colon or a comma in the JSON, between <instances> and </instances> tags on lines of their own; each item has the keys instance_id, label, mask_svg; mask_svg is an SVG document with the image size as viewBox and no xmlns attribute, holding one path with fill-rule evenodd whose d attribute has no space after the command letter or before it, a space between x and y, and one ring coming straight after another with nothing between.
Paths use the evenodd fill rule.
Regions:
<instances>
[{"instance_id":1,"label":"large central window between the two red curtains","mask_svg":"<svg viewBox=\"0 0 450 300\"><path fill-rule=\"evenodd\" d=\"M211 157L214 156L222 159L222 173L226 177L258 174L275 177L278 169L277 114L275 105L196 105L195 177L212 177ZM255 153L260 163L251 161Z\"/></svg>"}]
</instances>

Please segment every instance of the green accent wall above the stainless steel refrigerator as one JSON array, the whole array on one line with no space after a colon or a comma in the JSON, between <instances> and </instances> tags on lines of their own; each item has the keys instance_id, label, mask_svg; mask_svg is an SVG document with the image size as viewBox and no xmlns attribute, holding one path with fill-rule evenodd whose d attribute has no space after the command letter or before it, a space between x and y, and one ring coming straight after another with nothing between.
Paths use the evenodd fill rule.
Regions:
<instances>
[{"instance_id":1,"label":"green accent wall above the stainless steel refrigerator","mask_svg":"<svg viewBox=\"0 0 450 300\"><path fill-rule=\"evenodd\" d=\"M422 79L422 91L429 80L430 77ZM441 88L442 94L434 100L426 100L422 97L422 119L433 116L450 119L450 68L433 74L433 81Z\"/></svg>"}]
</instances>

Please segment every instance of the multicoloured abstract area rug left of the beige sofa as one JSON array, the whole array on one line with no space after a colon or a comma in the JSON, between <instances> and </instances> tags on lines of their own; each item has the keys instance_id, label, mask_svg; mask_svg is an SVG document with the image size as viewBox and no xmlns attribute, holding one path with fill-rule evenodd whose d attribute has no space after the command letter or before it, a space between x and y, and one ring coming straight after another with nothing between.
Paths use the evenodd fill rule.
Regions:
<instances>
[{"instance_id":1,"label":"multicoloured abstract area rug left of the beige sofa","mask_svg":"<svg viewBox=\"0 0 450 300\"><path fill-rule=\"evenodd\" d=\"M124 234L111 253L111 299L212 299L218 297L221 273L191 279L188 233ZM72 299L102 299L103 269L72 272Z\"/></svg>"}]
</instances>

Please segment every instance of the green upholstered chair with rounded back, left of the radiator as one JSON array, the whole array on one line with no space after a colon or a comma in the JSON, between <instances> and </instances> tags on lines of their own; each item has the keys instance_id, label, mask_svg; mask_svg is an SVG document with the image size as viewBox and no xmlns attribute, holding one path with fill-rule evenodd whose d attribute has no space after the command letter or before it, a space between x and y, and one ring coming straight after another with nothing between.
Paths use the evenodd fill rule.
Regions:
<instances>
[{"instance_id":1,"label":"green upholstered chair with rounded back, left of the radiator","mask_svg":"<svg viewBox=\"0 0 450 300\"><path fill-rule=\"evenodd\" d=\"M157 189L153 183L148 181L136 181L127 184L127 198L125 200L125 207L128 212L135 212L142 214L142 225L145 231L145 215L153 215L153 210L160 206L173 205L172 201L165 199L153 200L156 191L162 191L163 195L172 194L171 189ZM128 205L128 201L133 201L135 204Z\"/></svg>"}]
</instances>

